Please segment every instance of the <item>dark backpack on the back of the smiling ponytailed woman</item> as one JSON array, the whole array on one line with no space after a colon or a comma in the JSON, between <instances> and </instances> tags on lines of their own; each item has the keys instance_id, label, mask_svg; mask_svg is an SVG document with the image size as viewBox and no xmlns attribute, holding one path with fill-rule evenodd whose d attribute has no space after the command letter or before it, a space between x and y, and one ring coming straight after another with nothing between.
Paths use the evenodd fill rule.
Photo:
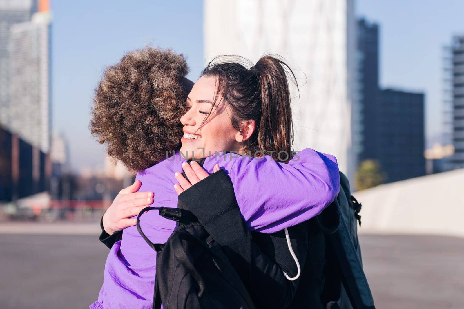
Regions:
<instances>
[{"instance_id":1,"label":"dark backpack on the back of the smiling ponytailed woman","mask_svg":"<svg viewBox=\"0 0 464 309\"><path fill-rule=\"evenodd\" d=\"M361 204L351 195L348 178L340 172L340 193L321 214L317 226L324 232L326 263L322 303L331 309L375 309L362 268L357 224Z\"/></svg>"}]
</instances>

